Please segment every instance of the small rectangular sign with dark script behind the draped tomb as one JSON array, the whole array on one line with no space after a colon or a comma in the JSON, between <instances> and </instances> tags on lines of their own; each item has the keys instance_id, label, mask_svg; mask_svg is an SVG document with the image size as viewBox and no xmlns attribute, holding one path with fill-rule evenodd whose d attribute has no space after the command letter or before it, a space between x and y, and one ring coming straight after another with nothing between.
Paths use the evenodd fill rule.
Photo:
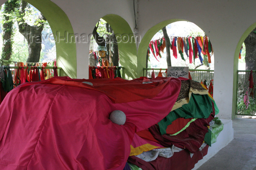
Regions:
<instances>
[{"instance_id":1,"label":"small rectangular sign with dark script behind the draped tomb","mask_svg":"<svg viewBox=\"0 0 256 170\"><path fill-rule=\"evenodd\" d=\"M188 79L188 67L168 67L167 69L168 77L184 77Z\"/></svg>"}]
</instances>

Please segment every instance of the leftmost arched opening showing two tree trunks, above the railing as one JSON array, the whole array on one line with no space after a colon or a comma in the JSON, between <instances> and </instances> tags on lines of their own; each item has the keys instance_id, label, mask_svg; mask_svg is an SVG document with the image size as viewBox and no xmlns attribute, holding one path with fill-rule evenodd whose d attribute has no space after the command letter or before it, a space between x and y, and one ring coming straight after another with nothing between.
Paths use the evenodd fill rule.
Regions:
<instances>
[{"instance_id":1,"label":"leftmost arched opening showing two tree trunks, above the railing","mask_svg":"<svg viewBox=\"0 0 256 170\"><path fill-rule=\"evenodd\" d=\"M1 9L1 64L51 66L56 60L55 40L42 13L25 1L7 1Z\"/></svg>"}]
</instances>

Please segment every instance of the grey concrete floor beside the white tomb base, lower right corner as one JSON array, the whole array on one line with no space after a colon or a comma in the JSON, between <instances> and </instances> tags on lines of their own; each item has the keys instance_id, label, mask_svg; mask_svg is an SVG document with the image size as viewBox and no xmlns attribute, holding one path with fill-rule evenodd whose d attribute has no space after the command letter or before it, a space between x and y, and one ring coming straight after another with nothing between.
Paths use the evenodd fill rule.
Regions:
<instances>
[{"instance_id":1,"label":"grey concrete floor beside the white tomb base, lower right corner","mask_svg":"<svg viewBox=\"0 0 256 170\"><path fill-rule=\"evenodd\" d=\"M233 120L234 139L197 170L256 170L256 119Z\"/></svg>"}]
</instances>

